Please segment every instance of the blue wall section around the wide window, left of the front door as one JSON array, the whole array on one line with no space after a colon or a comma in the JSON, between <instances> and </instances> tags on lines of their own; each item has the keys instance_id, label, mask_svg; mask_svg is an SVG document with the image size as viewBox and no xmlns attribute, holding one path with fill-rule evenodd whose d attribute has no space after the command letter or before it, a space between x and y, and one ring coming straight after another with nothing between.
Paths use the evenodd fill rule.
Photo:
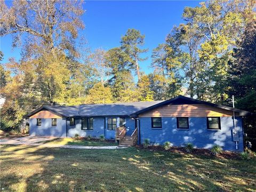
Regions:
<instances>
[{"instance_id":1,"label":"blue wall section around the wide window, left of the front door","mask_svg":"<svg viewBox=\"0 0 256 192\"><path fill-rule=\"evenodd\" d=\"M93 130L82 130L82 118L75 119L76 124L74 126L68 125L68 137L74 137L75 134L79 134L81 137L87 137L91 135L92 137L98 138L101 134L104 134L104 117L93 117Z\"/></svg>"}]
</instances>

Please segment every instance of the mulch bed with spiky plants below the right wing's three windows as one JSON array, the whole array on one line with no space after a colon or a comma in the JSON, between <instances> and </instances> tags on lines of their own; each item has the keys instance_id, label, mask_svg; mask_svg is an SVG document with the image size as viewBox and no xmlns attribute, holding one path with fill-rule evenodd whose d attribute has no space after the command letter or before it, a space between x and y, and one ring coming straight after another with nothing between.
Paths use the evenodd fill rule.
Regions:
<instances>
[{"instance_id":1,"label":"mulch bed with spiky plants below the right wing's three windows","mask_svg":"<svg viewBox=\"0 0 256 192\"><path fill-rule=\"evenodd\" d=\"M143 145L136 146L139 149L144 149ZM206 157L215 157L211 154L211 150L209 149L194 149L191 153L187 153L187 151L183 147L171 147L169 150L165 150L162 146L148 146L147 149L150 151L169 151L171 153L178 153L178 154L191 154L191 155L203 155ZM239 159L239 154L234 153L231 151L222 151L221 154L217 155L218 158L223 159Z\"/></svg>"}]
</instances>

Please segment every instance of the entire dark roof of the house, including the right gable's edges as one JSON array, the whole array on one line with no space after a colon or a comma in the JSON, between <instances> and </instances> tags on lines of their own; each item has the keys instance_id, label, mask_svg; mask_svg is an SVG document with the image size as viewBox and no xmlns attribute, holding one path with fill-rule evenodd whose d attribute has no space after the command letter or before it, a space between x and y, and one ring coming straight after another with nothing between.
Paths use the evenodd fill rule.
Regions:
<instances>
[{"instance_id":1,"label":"entire dark roof of the house, including the right gable's edges","mask_svg":"<svg viewBox=\"0 0 256 192\"><path fill-rule=\"evenodd\" d=\"M212 107L235 111L239 116L253 115L249 111L231 108L227 106L217 105L214 103L201 101L193 98L184 97L179 95L178 97L166 100L166 101L140 101L140 102L123 102L123 103L108 103L108 104L84 104L77 106L42 106L30 114L24 116L30 117L42 109L51 110L56 114L63 117L74 116L131 116L137 117L139 114L148 110L160 107L163 105L179 105L179 104L205 104Z\"/></svg>"}]
</instances>

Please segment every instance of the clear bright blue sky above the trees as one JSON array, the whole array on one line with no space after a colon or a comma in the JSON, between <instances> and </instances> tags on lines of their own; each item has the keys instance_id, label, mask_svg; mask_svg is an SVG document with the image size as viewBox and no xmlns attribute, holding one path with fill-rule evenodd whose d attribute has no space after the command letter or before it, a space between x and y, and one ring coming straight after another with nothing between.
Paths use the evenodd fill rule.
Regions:
<instances>
[{"instance_id":1,"label":"clear bright blue sky above the trees","mask_svg":"<svg viewBox=\"0 0 256 192\"><path fill-rule=\"evenodd\" d=\"M85 29L80 31L94 50L105 50L119 46L121 36L129 28L135 28L145 34L145 48L149 59L140 63L147 74L150 66L151 51L170 33L174 25L182 23L182 12L186 6L198 6L201 1L86 1L86 10L82 19ZM7 2L8 5L11 2ZM12 49L11 36L1 37L1 51L4 62L9 57L20 58L20 48Z\"/></svg>"}]
</instances>

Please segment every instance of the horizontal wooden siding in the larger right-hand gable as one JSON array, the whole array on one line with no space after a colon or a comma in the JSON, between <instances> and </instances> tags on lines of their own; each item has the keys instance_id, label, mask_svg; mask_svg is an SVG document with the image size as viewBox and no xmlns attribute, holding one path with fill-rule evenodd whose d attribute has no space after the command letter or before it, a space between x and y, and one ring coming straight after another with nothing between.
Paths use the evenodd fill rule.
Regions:
<instances>
[{"instance_id":1,"label":"horizontal wooden siding in the larger right-hand gable","mask_svg":"<svg viewBox=\"0 0 256 192\"><path fill-rule=\"evenodd\" d=\"M233 111L204 104L166 105L146 111L139 117L230 117Z\"/></svg>"}]
</instances>

